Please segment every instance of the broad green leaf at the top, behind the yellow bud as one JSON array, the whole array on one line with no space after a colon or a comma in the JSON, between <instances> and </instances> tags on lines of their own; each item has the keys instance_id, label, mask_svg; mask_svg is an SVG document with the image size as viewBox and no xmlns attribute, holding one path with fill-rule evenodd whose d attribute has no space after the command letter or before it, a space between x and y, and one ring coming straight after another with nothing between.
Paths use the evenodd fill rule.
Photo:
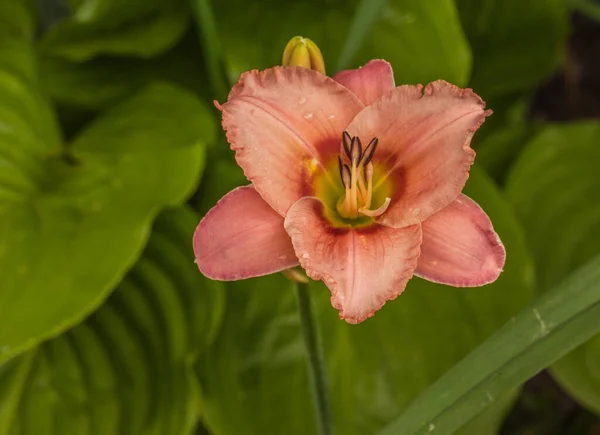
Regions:
<instances>
[{"instance_id":1,"label":"broad green leaf at the top, behind the yellow bud","mask_svg":"<svg viewBox=\"0 0 600 435\"><path fill-rule=\"evenodd\" d=\"M332 68L351 37L356 1L232 0L214 6L225 61L235 81L246 70L280 64L286 43L295 35L319 45L328 74L333 75ZM232 14L236 9L244 13ZM464 85L471 67L469 46L451 0L390 0L345 66L358 67L374 58L392 63L398 83L443 78Z\"/></svg>"}]
</instances>

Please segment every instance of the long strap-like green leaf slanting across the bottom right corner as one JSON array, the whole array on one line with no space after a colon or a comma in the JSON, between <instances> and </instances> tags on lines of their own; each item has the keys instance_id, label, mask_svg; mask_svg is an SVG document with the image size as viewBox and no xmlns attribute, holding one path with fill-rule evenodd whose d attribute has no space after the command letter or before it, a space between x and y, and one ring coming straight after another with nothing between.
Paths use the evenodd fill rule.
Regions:
<instances>
[{"instance_id":1,"label":"long strap-like green leaf slanting across the bottom right corner","mask_svg":"<svg viewBox=\"0 0 600 435\"><path fill-rule=\"evenodd\" d=\"M512 318L378 435L454 434L600 331L600 257Z\"/></svg>"}]
</instances>

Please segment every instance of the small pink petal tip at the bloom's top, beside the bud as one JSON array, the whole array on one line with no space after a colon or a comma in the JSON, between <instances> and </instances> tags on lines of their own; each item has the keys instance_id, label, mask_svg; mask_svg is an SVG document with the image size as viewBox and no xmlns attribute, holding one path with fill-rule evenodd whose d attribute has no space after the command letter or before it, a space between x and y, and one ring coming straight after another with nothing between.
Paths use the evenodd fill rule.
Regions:
<instances>
[{"instance_id":1,"label":"small pink petal tip at the bloom's top, beside the bud","mask_svg":"<svg viewBox=\"0 0 600 435\"><path fill-rule=\"evenodd\" d=\"M365 106L396 86L392 66L385 60L372 60L361 68L340 71L333 79L354 92Z\"/></svg>"}]
</instances>

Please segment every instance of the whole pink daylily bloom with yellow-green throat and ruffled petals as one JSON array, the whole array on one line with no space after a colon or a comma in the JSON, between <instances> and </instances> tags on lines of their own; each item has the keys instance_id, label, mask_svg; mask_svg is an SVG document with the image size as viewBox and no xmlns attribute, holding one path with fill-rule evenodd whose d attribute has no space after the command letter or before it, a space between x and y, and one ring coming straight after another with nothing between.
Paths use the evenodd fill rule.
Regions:
<instances>
[{"instance_id":1,"label":"whole pink daylily bloom with yellow-green throat and ruffled petals","mask_svg":"<svg viewBox=\"0 0 600 435\"><path fill-rule=\"evenodd\" d=\"M249 71L217 104L252 183L194 234L198 268L237 280L300 264L358 323L418 275L452 286L496 280L505 250L461 193L473 134L491 112L442 80L394 84L374 60L333 79L300 67Z\"/></svg>"}]
</instances>

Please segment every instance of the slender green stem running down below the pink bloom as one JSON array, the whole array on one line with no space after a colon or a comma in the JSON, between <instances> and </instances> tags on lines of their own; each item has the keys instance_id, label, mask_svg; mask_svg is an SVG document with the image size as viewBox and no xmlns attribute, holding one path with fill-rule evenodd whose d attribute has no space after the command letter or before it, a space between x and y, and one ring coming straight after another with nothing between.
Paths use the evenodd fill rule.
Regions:
<instances>
[{"instance_id":1,"label":"slender green stem running down below the pink bloom","mask_svg":"<svg viewBox=\"0 0 600 435\"><path fill-rule=\"evenodd\" d=\"M302 325L302 335L304 336L304 344L308 356L308 374L313 393L313 404L315 406L317 433L319 435L332 435L333 426L331 422L327 376L325 373L325 359L323 358L323 347L311 310L308 284L297 282L296 294L298 295L298 310Z\"/></svg>"}]
</instances>

